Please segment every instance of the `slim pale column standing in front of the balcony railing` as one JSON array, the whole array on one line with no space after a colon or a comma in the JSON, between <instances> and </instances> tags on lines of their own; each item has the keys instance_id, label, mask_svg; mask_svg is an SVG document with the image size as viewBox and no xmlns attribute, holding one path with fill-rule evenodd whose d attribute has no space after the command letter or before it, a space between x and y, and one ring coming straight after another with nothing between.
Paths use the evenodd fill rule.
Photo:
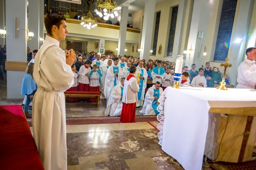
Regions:
<instances>
[{"instance_id":1,"label":"slim pale column standing in front of the balcony railing","mask_svg":"<svg viewBox=\"0 0 256 170\"><path fill-rule=\"evenodd\" d=\"M127 30L127 20L128 20L128 7L129 4L123 3L121 8L121 20L119 28L119 40L118 40L118 52L117 55L125 55L125 42L126 42L126 30Z\"/></svg>"}]
</instances>

